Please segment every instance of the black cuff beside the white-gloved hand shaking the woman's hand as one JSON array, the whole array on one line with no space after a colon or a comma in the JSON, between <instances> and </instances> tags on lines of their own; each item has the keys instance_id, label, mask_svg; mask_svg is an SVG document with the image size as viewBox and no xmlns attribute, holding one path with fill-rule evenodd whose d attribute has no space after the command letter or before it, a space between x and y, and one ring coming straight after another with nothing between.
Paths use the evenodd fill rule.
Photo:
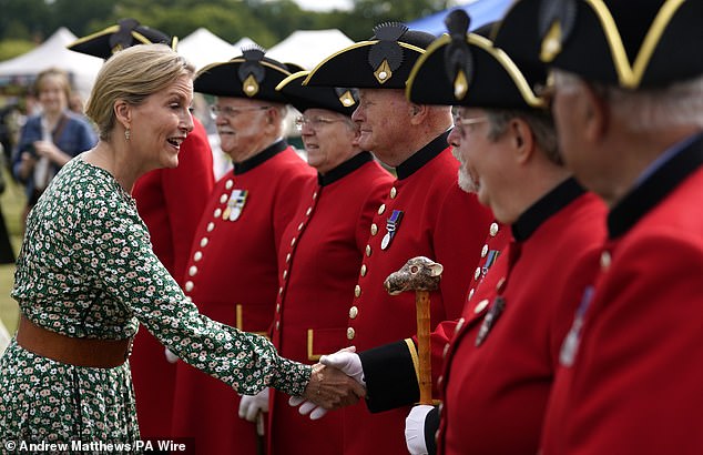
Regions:
<instances>
[{"instance_id":1,"label":"black cuff beside the white-gloved hand shaking the woman's hand","mask_svg":"<svg viewBox=\"0 0 703 455\"><path fill-rule=\"evenodd\" d=\"M405 341L358 353L371 413L410 406L420 398L417 373Z\"/></svg>"}]
</instances>

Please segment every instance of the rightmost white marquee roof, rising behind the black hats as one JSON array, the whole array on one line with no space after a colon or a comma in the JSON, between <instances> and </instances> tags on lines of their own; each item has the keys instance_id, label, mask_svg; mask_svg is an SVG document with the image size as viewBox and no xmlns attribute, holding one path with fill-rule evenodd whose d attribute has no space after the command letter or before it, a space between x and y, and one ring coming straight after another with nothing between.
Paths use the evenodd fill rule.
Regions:
<instances>
[{"instance_id":1,"label":"rightmost white marquee roof, rising behind the black hats","mask_svg":"<svg viewBox=\"0 0 703 455\"><path fill-rule=\"evenodd\" d=\"M349 37L337 29L298 30L268 49L266 57L312 70L327 57L353 43Z\"/></svg>"}]
</instances>

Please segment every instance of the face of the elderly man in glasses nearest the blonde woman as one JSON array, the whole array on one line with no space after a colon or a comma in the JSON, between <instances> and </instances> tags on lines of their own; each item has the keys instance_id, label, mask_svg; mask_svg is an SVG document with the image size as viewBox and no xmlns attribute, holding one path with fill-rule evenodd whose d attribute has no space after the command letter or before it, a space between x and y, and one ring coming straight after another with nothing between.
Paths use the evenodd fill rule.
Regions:
<instances>
[{"instance_id":1,"label":"face of the elderly man in glasses nearest the blonde woman","mask_svg":"<svg viewBox=\"0 0 703 455\"><path fill-rule=\"evenodd\" d=\"M217 99L215 104L220 146L232 160L242 162L267 145L264 141L271 123L271 103L243 98Z\"/></svg>"}]
</instances>

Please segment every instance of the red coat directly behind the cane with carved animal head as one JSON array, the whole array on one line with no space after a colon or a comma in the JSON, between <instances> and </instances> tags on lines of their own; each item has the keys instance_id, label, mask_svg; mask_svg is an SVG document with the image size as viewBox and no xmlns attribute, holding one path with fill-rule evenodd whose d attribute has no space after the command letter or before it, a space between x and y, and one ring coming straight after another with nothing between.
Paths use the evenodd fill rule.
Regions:
<instances>
[{"instance_id":1,"label":"red coat directly behind the cane with carved animal head","mask_svg":"<svg viewBox=\"0 0 703 455\"><path fill-rule=\"evenodd\" d=\"M430 294L432 325L461 313L491 216L476 196L459 189L459 163L446 140L447 134L438 136L396 169L398 180L374 218L347 311L347 342L359 351L415 334L415 295L390 296L383 285L410 257L425 255L445 266L440 289ZM390 232L395 235L387 242ZM344 453L406 453L408 411L371 415L360 403L344 408Z\"/></svg>"}]
</instances>

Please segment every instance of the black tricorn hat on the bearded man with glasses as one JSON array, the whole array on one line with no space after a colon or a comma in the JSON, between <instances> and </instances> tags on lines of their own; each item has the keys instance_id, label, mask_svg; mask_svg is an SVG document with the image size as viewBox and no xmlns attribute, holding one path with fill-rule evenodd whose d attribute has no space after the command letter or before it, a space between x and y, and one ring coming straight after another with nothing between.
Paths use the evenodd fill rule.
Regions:
<instances>
[{"instance_id":1,"label":"black tricorn hat on the bearded man with glasses","mask_svg":"<svg viewBox=\"0 0 703 455\"><path fill-rule=\"evenodd\" d=\"M487 109L544 108L534 93L534 85L547 79L543 65L523 70L491 40L467 33L469 17L461 9L451 11L445 23L449 34L438 38L412 69L406 89L410 101Z\"/></svg>"}]
</instances>

